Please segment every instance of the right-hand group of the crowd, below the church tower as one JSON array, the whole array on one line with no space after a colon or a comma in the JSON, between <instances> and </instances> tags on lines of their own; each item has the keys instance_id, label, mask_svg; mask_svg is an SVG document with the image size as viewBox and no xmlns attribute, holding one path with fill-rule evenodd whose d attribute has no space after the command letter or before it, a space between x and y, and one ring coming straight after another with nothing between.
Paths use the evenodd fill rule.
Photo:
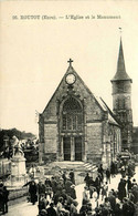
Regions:
<instances>
[{"instance_id":1,"label":"right-hand group of the crowd, below the church tower","mask_svg":"<svg viewBox=\"0 0 138 216\"><path fill-rule=\"evenodd\" d=\"M98 174L93 179L87 173L85 177L86 187L83 194L83 206L85 209L84 215L94 216L137 216L138 206L138 185L136 179L131 179L132 176L128 175L128 166L125 166L125 172L121 172L121 167L117 168L116 162L112 163L110 168L104 171L100 165L97 169ZM110 184L110 178L114 178L118 172L120 172L121 177L118 183L117 191L112 188L108 191L108 184ZM132 171L131 171L132 173ZM87 193L88 192L88 193ZM89 197L88 197L89 194ZM99 198L100 196L100 198ZM87 209L89 198L93 199L91 203L92 210ZM89 212L89 213L87 213Z\"/></svg>"}]
</instances>

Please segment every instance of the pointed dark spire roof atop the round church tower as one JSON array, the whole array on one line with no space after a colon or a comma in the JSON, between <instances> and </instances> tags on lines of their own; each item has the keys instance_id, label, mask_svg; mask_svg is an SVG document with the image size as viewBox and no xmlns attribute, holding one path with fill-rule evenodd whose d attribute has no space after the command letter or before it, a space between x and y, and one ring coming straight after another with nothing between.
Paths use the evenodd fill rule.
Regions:
<instances>
[{"instance_id":1,"label":"pointed dark spire roof atop the round church tower","mask_svg":"<svg viewBox=\"0 0 138 216\"><path fill-rule=\"evenodd\" d=\"M112 81L117 81L117 80L131 81L129 75L126 73L121 37L120 37L119 54L118 54L118 62L117 62L117 72Z\"/></svg>"}]
</instances>

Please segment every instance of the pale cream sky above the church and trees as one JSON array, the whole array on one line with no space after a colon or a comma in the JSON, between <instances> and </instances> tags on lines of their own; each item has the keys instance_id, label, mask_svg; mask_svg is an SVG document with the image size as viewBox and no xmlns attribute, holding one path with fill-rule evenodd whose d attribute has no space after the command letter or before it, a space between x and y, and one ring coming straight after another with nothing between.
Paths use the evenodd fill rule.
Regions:
<instances>
[{"instance_id":1,"label":"pale cream sky above the church and trees","mask_svg":"<svg viewBox=\"0 0 138 216\"><path fill-rule=\"evenodd\" d=\"M70 58L89 90L112 109L120 27L138 125L137 11L137 1L1 1L0 127L38 134L36 113L43 112ZM98 14L117 18L97 19Z\"/></svg>"}]
</instances>

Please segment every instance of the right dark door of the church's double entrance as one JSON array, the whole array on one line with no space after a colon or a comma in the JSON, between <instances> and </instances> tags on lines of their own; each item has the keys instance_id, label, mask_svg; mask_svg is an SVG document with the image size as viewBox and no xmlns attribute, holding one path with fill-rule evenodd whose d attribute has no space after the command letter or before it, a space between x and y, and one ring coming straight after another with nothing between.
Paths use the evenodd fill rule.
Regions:
<instances>
[{"instance_id":1,"label":"right dark door of the church's double entrance","mask_svg":"<svg viewBox=\"0 0 138 216\"><path fill-rule=\"evenodd\" d=\"M82 136L74 138L75 143L75 161L82 161Z\"/></svg>"}]
</instances>

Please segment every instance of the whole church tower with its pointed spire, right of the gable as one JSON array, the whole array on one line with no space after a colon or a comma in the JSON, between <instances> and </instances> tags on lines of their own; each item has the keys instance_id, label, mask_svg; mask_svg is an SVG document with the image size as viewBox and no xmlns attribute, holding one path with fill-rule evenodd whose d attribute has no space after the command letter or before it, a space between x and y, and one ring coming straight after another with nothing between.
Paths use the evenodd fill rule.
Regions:
<instances>
[{"instance_id":1,"label":"whole church tower with its pointed spire, right of the gable","mask_svg":"<svg viewBox=\"0 0 138 216\"><path fill-rule=\"evenodd\" d=\"M112 80L113 111L121 125L121 146L130 150L132 137L132 110L131 110L132 80L126 72L123 42L120 38L117 71Z\"/></svg>"}]
</instances>

